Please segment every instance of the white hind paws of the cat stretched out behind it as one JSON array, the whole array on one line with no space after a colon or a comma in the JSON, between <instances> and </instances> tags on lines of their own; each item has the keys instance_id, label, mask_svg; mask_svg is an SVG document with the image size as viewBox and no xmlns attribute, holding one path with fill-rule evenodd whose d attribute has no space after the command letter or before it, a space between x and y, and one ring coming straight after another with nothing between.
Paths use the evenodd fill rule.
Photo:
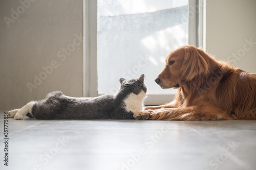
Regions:
<instances>
[{"instance_id":1,"label":"white hind paws of the cat stretched out behind it","mask_svg":"<svg viewBox=\"0 0 256 170\"><path fill-rule=\"evenodd\" d=\"M8 112L8 117L14 117L17 120L22 120L26 115L33 117L31 114L32 107L36 102L31 101L27 105L23 106L21 109L15 109Z\"/></svg>"}]
</instances>

